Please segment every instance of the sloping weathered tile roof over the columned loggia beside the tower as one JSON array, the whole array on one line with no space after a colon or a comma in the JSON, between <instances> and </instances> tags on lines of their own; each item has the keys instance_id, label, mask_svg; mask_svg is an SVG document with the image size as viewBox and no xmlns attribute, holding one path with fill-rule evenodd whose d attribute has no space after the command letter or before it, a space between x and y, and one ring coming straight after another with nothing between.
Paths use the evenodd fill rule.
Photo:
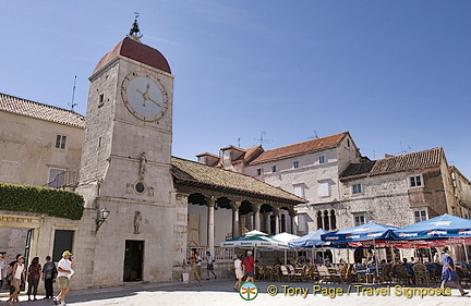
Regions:
<instances>
[{"instance_id":1,"label":"sloping weathered tile roof over the columned loggia beside the tower","mask_svg":"<svg viewBox=\"0 0 471 306\"><path fill-rule=\"evenodd\" d=\"M250 193L262 197L278 198L293 204L307 203L293 194L274 187L252 176L214 168L200 162L172 157L172 175L189 184L203 184L213 187L232 189L239 193Z\"/></svg>"}]
</instances>

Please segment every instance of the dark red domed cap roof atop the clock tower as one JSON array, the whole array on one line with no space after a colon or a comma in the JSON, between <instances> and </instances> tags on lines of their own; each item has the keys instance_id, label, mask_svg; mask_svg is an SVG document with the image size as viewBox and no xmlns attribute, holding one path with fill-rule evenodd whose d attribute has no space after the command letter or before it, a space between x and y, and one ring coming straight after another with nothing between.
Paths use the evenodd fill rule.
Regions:
<instances>
[{"instance_id":1,"label":"dark red domed cap roof atop the clock tower","mask_svg":"<svg viewBox=\"0 0 471 306\"><path fill-rule=\"evenodd\" d=\"M101 58L101 60L96 65L93 74L100 71L119 56L171 73L169 63L158 50L142 42L135 41L129 37L125 37L120 42L118 42L118 45L116 45L114 48L111 49L111 51L109 51L105 54L105 57Z\"/></svg>"}]
</instances>

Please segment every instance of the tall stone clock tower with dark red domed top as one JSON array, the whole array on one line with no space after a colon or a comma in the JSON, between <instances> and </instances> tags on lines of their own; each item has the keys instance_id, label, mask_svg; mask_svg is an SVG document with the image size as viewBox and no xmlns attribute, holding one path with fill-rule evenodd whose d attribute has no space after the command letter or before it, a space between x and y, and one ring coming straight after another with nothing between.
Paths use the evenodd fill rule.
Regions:
<instances>
[{"instance_id":1,"label":"tall stone clock tower with dark red domed top","mask_svg":"<svg viewBox=\"0 0 471 306\"><path fill-rule=\"evenodd\" d=\"M89 250L96 283L171 279L173 75L166 58L141 37L134 21L89 77L76 192L85 208L110 211ZM117 273L117 267L124 269Z\"/></svg>"}]
</instances>

